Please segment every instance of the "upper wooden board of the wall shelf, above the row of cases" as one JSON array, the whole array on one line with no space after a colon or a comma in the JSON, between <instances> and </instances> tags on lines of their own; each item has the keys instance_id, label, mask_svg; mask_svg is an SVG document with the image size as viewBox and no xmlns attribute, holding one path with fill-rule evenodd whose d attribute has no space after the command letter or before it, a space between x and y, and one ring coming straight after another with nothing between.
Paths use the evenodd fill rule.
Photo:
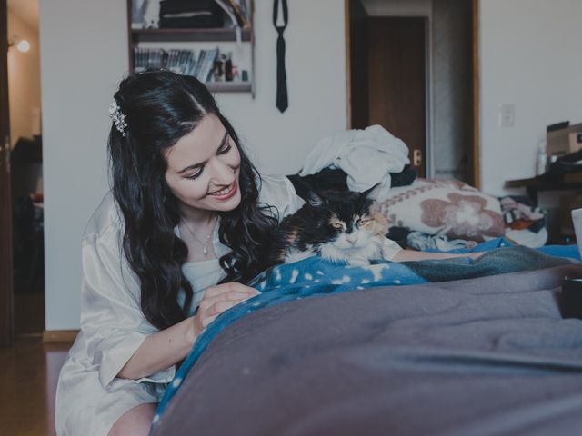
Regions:
<instances>
[{"instance_id":1,"label":"upper wooden board of the wall shelf, above the row of cases","mask_svg":"<svg viewBox=\"0 0 582 436\"><path fill-rule=\"evenodd\" d=\"M251 29L241 30L241 39L251 41ZM236 30L213 29L131 29L135 43L166 41L236 41Z\"/></svg>"}]
</instances>

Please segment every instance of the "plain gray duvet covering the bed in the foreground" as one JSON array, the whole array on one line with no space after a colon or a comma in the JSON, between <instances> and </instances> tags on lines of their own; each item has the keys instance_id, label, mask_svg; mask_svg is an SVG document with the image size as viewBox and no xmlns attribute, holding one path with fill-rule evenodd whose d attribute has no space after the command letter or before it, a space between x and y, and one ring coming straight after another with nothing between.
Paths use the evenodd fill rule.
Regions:
<instances>
[{"instance_id":1,"label":"plain gray duvet covering the bed in the foreground","mask_svg":"<svg viewBox=\"0 0 582 436\"><path fill-rule=\"evenodd\" d=\"M221 332L154 435L579 435L582 266L287 302Z\"/></svg>"}]
</instances>

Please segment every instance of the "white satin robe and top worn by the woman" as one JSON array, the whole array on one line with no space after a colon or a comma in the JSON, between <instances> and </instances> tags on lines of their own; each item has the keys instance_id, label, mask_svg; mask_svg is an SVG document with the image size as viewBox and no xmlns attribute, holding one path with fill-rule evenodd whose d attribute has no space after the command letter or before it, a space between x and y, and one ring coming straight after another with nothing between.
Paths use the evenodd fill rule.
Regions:
<instances>
[{"instance_id":1,"label":"white satin robe and top worn by the woman","mask_svg":"<svg viewBox=\"0 0 582 436\"><path fill-rule=\"evenodd\" d=\"M304 203L284 176L265 176L259 199L276 206L278 219ZM112 193L107 193L83 237L81 332L56 392L55 424L61 436L105 436L125 411L158 402L175 375L172 366L137 381L115 378L146 336L157 331L141 311L139 283L121 249L123 233L123 217ZM217 256L227 253L218 240L218 226L213 243ZM217 260L186 263L184 273L195 289L190 307L194 313L206 287L223 277L222 269Z\"/></svg>"}]
</instances>

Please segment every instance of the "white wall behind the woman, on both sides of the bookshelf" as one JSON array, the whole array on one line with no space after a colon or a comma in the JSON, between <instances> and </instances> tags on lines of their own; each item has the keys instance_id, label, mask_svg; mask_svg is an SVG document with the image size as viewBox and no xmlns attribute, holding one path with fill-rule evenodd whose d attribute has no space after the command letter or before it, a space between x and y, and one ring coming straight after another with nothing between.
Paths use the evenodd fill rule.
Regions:
<instances>
[{"instance_id":1,"label":"white wall behind the woman, on both sides of the bookshelf","mask_svg":"<svg viewBox=\"0 0 582 436\"><path fill-rule=\"evenodd\" d=\"M275 107L273 3L255 5L256 99L217 99L261 171L293 173L320 137L346 126L344 2L289 2L285 114ZM127 69L126 31L125 1L40 5L46 330L79 326L80 236L108 186L107 107Z\"/></svg>"}]
</instances>

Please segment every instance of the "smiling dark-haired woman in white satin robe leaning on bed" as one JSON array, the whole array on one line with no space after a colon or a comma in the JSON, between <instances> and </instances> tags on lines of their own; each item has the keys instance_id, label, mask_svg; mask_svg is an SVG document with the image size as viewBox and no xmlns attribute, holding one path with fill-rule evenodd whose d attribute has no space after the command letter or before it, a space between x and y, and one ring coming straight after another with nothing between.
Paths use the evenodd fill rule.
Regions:
<instances>
[{"instance_id":1,"label":"smiling dark-haired woman in white satin robe leaning on bed","mask_svg":"<svg viewBox=\"0 0 582 436\"><path fill-rule=\"evenodd\" d=\"M113 187L85 229L59 435L146 435L176 364L217 315L258 293L240 282L262 270L273 225L303 203L285 177L259 177L194 77L130 76L110 114Z\"/></svg>"}]
</instances>

